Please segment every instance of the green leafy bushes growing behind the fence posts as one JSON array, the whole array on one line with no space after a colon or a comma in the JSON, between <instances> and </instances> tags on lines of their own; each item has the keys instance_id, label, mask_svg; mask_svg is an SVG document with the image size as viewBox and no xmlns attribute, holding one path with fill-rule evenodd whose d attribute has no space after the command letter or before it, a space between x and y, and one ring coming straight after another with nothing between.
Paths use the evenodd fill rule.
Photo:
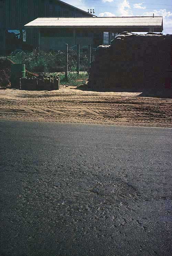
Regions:
<instances>
[{"instance_id":1,"label":"green leafy bushes growing behind the fence posts","mask_svg":"<svg viewBox=\"0 0 172 256\"><path fill-rule=\"evenodd\" d=\"M77 52L76 49L69 48L68 50L68 70L76 72L77 67ZM65 52L37 52L34 49L31 52L20 51L14 52L8 58L18 64L25 64L25 67L30 72L64 72L65 71ZM88 54L80 53L80 71L88 70ZM72 77L72 75L71 75Z\"/></svg>"}]
</instances>

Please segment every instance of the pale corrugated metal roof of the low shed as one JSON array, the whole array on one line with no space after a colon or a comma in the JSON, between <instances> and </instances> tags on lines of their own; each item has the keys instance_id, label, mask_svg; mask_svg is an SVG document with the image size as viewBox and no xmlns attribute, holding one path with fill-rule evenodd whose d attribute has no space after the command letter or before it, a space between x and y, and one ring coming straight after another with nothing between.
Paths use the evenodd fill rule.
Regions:
<instances>
[{"instance_id":1,"label":"pale corrugated metal roof of the low shed","mask_svg":"<svg viewBox=\"0 0 172 256\"><path fill-rule=\"evenodd\" d=\"M27 27L161 27L162 16L37 18Z\"/></svg>"}]
</instances>

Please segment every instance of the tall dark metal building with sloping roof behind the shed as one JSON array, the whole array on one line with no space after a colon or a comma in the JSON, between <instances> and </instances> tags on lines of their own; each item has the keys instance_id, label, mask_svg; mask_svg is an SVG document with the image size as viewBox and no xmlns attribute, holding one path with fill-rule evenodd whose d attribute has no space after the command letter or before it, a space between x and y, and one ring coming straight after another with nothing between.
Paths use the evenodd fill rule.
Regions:
<instances>
[{"instance_id":1,"label":"tall dark metal building with sloping roof behind the shed","mask_svg":"<svg viewBox=\"0 0 172 256\"><path fill-rule=\"evenodd\" d=\"M19 38L21 34L22 40L34 47L38 46L38 29L27 28L25 31L24 28L26 23L37 17L93 16L60 0L0 0L0 55L6 53L6 38L12 44L15 41L13 37Z\"/></svg>"}]
</instances>

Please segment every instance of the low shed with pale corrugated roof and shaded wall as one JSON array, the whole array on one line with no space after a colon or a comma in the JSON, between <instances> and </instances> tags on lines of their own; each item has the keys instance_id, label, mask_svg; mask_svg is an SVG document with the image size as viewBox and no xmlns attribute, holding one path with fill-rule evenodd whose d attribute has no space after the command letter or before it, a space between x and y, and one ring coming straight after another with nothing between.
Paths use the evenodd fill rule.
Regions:
<instances>
[{"instance_id":1,"label":"low shed with pale corrugated roof and shaded wall","mask_svg":"<svg viewBox=\"0 0 172 256\"><path fill-rule=\"evenodd\" d=\"M123 31L162 32L162 16L138 17L53 17L37 18L24 26L37 29L39 48L43 51L64 50L75 46L108 45Z\"/></svg>"}]
</instances>

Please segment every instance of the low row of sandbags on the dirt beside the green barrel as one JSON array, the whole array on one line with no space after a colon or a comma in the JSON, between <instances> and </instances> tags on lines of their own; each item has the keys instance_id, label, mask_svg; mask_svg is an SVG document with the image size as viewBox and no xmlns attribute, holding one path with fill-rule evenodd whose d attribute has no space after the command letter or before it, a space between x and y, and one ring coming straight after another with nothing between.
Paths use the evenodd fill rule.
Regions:
<instances>
[{"instance_id":1,"label":"low row of sandbags on the dirt beside the green barrel","mask_svg":"<svg viewBox=\"0 0 172 256\"><path fill-rule=\"evenodd\" d=\"M22 90L59 90L59 76L32 76L20 79L20 89Z\"/></svg>"}]
</instances>

